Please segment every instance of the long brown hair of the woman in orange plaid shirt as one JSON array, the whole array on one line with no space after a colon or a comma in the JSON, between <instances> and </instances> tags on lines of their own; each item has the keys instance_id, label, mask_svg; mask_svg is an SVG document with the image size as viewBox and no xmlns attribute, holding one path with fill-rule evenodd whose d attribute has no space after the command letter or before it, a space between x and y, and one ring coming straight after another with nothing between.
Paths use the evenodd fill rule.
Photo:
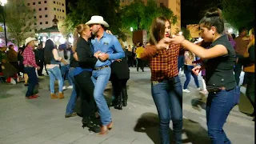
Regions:
<instances>
[{"instance_id":1,"label":"long brown hair of the woman in orange plaid shirt","mask_svg":"<svg viewBox=\"0 0 256 144\"><path fill-rule=\"evenodd\" d=\"M156 45L165 34L166 22L170 21L164 17L155 18L150 28L150 44Z\"/></svg>"}]
</instances>

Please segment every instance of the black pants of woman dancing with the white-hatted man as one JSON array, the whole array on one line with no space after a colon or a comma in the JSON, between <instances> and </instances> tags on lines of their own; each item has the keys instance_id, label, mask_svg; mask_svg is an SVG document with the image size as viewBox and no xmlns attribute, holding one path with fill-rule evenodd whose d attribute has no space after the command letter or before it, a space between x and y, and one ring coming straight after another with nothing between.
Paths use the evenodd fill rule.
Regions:
<instances>
[{"instance_id":1,"label":"black pants of woman dancing with the white-hatted man","mask_svg":"<svg viewBox=\"0 0 256 144\"><path fill-rule=\"evenodd\" d=\"M90 71L82 71L74 76L74 80L78 85L77 94L81 96L82 116L83 118L94 117L96 112L96 104L94 101L94 83L91 80Z\"/></svg>"}]
</instances>

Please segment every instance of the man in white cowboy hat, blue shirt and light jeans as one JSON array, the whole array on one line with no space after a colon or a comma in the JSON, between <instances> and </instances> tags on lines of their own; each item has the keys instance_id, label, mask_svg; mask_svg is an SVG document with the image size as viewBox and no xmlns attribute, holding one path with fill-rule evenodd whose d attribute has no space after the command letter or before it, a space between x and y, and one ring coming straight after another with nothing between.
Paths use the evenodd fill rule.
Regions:
<instances>
[{"instance_id":1,"label":"man in white cowboy hat, blue shirt and light jeans","mask_svg":"<svg viewBox=\"0 0 256 144\"><path fill-rule=\"evenodd\" d=\"M94 53L101 51L98 62L96 62L93 70L92 80L95 86L94 99L102 121L102 128L99 134L103 135L106 134L113 125L110 110L103 95L110 79L110 65L115 59L124 58L125 53L122 50L121 44L118 42L118 38L112 34L107 34L104 30L105 27L109 27L109 24L105 22L101 16L92 16L90 21L86 22L86 25L90 26L90 30L95 35L95 38L91 40Z\"/></svg>"}]
</instances>

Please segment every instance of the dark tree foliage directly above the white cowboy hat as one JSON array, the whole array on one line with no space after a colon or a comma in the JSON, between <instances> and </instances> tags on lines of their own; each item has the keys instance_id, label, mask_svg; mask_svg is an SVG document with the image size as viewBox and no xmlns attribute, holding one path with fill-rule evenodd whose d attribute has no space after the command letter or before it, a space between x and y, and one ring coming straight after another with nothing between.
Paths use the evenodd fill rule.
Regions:
<instances>
[{"instance_id":1,"label":"dark tree foliage directly above the white cowboy hat","mask_svg":"<svg viewBox=\"0 0 256 144\"><path fill-rule=\"evenodd\" d=\"M66 31L72 33L75 26L86 23L93 15L100 15L110 25L108 30L122 36L119 11L119 0L78 0L70 2L70 14L67 14Z\"/></svg>"}]
</instances>

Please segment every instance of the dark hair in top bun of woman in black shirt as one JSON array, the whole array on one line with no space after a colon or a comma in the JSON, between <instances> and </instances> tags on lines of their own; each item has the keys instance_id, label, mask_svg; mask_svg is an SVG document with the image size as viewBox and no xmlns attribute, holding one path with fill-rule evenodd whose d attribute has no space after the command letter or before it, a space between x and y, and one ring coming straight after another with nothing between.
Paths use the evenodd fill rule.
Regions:
<instances>
[{"instance_id":1,"label":"dark hair in top bun of woman in black shirt","mask_svg":"<svg viewBox=\"0 0 256 144\"><path fill-rule=\"evenodd\" d=\"M222 34L224 31L222 10L218 8L210 8L209 10L206 10L205 16L200 20L199 25L206 27L208 30L210 30L211 26L214 26L218 34Z\"/></svg>"}]
</instances>

